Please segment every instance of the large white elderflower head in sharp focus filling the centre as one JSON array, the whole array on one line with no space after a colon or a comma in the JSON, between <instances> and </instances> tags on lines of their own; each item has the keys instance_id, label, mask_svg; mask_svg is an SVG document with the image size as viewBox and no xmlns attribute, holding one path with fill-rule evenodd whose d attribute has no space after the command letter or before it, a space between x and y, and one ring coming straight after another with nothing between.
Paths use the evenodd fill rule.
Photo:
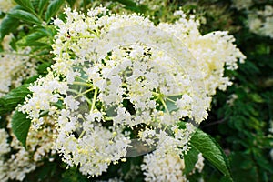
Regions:
<instances>
[{"instance_id":1,"label":"large white elderflower head in sharp focus filling the centre","mask_svg":"<svg viewBox=\"0 0 273 182\"><path fill-rule=\"evenodd\" d=\"M187 117L199 124L210 96L230 85L224 66L236 69L245 58L227 32L200 35L198 22L183 12L175 24L158 26L104 7L87 16L65 13L66 22L55 20L56 63L29 87L33 95L19 110L35 128L43 128L45 115L53 117L56 149L68 166L91 177L126 161L132 131L156 146L155 160L187 151L194 126L177 124Z\"/></svg>"}]
</instances>

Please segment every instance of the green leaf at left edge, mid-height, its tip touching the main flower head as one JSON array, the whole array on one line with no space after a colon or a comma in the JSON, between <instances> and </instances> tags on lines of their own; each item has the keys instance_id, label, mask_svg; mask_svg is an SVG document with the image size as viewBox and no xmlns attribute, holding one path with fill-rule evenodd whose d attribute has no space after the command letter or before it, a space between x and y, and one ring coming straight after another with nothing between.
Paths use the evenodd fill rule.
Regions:
<instances>
[{"instance_id":1,"label":"green leaf at left edge, mid-height, its tip touching the main flower head","mask_svg":"<svg viewBox=\"0 0 273 182\"><path fill-rule=\"evenodd\" d=\"M7 112L11 112L18 104L22 104L25 101L25 96L31 93L28 86L28 84L25 84L16 87L7 95L0 98L0 116Z\"/></svg>"}]
</instances>

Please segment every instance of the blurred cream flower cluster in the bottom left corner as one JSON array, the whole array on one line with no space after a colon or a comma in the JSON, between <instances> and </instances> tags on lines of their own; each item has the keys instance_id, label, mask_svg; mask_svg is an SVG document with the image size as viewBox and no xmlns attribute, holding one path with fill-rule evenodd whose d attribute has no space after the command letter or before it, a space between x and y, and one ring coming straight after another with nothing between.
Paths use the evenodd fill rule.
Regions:
<instances>
[{"instance_id":1,"label":"blurred cream flower cluster in the bottom left corner","mask_svg":"<svg viewBox=\"0 0 273 182\"><path fill-rule=\"evenodd\" d=\"M8 128L11 129L10 123L11 116L8 116L7 120L9 121ZM52 161L53 155L56 153L56 150L53 148L53 134L54 130L54 121L45 117L45 127L42 130L35 131L30 130L27 136L27 150L23 147L17 138L11 133L12 141L11 144L5 143L6 136L3 136L3 130L0 132L0 139L3 141L0 142L0 180L8 181L18 180L23 181L25 175L35 170L36 167L39 167L43 164L45 157L49 157L49 160ZM4 142L5 141L5 142ZM12 148L12 154L9 154L10 157L1 158L1 154L8 153ZM4 151L5 150L5 151Z\"/></svg>"}]
</instances>

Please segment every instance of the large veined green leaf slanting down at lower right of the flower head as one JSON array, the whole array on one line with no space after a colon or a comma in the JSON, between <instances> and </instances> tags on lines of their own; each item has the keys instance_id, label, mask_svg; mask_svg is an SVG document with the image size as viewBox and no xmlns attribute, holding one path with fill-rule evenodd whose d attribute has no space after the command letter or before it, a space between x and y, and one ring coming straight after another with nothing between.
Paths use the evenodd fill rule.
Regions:
<instances>
[{"instance_id":1,"label":"large veined green leaf slanting down at lower right of the flower head","mask_svg":"<svg viewBox=\"0 0 273 182\"><path fill-rule=\"evenodd\" d=\"M190 144L191 147L196 148L198 152L202 153L203 157L207 158L213 166L217 167L219 171L232 181L227 157L211 136L197 129L196 133L191 137Z\"/></svg>"}]
</instances>

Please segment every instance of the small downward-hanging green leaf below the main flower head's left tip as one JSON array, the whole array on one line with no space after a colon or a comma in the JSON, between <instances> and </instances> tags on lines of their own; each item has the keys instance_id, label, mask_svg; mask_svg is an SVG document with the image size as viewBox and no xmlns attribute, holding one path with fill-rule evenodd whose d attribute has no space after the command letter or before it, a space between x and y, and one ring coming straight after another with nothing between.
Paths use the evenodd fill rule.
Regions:
<instances>
[{"instance_id":1,"label":"small downward-hanging green leaf below the main flower head's left tip","mask_svg":"<svg viewBox=\"0 0 273 182\"><path fill-rule=\"evenodd\" d=\"M26 147L26 137L31 123L31 120L26 116L26 114L15 111L12 118L12 130L24 147Z\"/></svg>"}]
</instances>

